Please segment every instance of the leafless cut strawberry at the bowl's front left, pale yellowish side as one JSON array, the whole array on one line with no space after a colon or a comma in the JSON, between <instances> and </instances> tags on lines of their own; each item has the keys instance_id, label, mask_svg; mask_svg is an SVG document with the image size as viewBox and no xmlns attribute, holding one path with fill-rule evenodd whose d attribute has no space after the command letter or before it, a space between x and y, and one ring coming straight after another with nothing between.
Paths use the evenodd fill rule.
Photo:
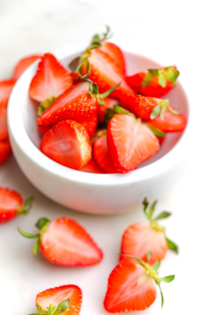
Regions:
<instances>
[{"instance_id":1,"label":"leafless cut strawberry at the bowl's front left, pale yellowish side","mask_svg":"<svg viewBox=\"0 0 210 315\"><path fill-rule=\"evenodd\" d=\"M57 163L81 169L91 158L92 147L87 130L73 120L63 120L48 130L40 151Z\"/></svg>"}]
</instances>

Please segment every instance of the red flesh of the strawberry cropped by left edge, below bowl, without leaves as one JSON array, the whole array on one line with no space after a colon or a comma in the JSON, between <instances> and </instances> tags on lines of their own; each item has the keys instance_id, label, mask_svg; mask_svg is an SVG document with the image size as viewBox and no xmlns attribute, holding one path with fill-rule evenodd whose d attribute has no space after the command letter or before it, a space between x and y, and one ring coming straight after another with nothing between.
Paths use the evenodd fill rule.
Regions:
<instances>
[{"instance_id":1,"label":"red flesh of the strawberry cropped by left edge, below bowl, without leaves","mask_svg":"<svg viewBox=\"0 0 210 315\"><path fill-rule=\"evenodd\" d=\"M20 194L9 188L0 187L0 223L13 219L22 203Z\"/></svg>"}]
</instances>

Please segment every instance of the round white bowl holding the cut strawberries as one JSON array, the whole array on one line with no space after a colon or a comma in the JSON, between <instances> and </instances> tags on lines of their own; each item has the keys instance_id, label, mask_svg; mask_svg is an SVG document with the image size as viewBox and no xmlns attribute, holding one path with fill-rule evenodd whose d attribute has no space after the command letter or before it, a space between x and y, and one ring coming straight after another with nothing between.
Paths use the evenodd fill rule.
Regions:
<instances>
[{"instance_id":1,"label":"round white bowl holding the cut strawberries","mask_svg":"<svg viewBox=\"0 0 210 315\"><path fill-rule=\"evenodd\" d=\"M54 54L67 67L86 47L71 45ZM128 74L159 64L138 54L125 52ZM28 94L37 69L34 62L20 77L11 93L8 106L9 137L14 156L28 180L54 201L88 213L117 213L136 207L145 196L158 198L176 182L181 172L181 159L188 132L167 134L161 149L138 169L127 174L93 174L69 169L39 151L41 136L37 129L37 107ZM177 86L166 96L172 106L189 118L189 105L184 89Z\"/></svg>"}]
</instances>

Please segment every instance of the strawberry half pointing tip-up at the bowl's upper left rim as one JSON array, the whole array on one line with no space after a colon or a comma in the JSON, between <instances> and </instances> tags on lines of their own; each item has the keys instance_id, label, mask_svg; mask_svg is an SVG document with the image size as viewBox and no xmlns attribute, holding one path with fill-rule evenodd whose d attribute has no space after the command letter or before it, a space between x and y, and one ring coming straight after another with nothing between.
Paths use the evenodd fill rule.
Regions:
<instances>
[{"instance_id":1,"label":"strawberry half pointing tip-up at the bowl's upper left rim","mask_svg":"<svg viewBox=\"0 0 210 315\"><path fill-rule=\"evenodd\" d=\"M71 74L52 54L44 54L31 81L29 94L38 102L54 100L71 85Z\"/></svg>"}]
</instances>

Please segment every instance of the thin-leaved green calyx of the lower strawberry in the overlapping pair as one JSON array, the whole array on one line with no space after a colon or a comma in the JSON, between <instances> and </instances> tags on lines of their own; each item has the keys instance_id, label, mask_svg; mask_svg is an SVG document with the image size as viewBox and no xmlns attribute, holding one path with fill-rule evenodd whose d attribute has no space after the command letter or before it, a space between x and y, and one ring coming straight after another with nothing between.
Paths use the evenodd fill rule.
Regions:
<instances>
[{"instance_id":1,"label":"thin-leaved green calyx of the lower strawberry in the overlapping pair","mask_svg":"<svg viewBox=\"0 0 210 315\"><path fill-rule=\"evenodd\" d=\"M158 285L158 287L159 287L159 289L160 289L161 299L162 299L162 306L163 306L164 300L163 300L163 294L162 294L162 290L161 290L161 287L160 287L160 283L161 283L161 281L169 283L169 282L173 281L173 279L175 278L175 276L174 276L174 275L170 275L170 276L166 276L166 277L160 278L160 277L158 276L158 272L157 272L157 271L158 271L158 268L160 267L160 264L161 264L160 260L157 261L154 266L150 266L149 263L148 263L149 258L150 258L150 256L152 255L151 252L148 252L148 253L147 253L147 262L143 261L142 259L140 259L140 258L138 258L138 257L136 257L136 256L123 255L123 254L121 254L121 255L122 255L122 256L126 256L126 257L130 257L130 258L136 259L135 263L140 264L140 265L145 269L146 275L147 275L148 277L150 277L150 278L152 278L152 279L155 280L156 284Z\"/></svg>"}]
</instances>

